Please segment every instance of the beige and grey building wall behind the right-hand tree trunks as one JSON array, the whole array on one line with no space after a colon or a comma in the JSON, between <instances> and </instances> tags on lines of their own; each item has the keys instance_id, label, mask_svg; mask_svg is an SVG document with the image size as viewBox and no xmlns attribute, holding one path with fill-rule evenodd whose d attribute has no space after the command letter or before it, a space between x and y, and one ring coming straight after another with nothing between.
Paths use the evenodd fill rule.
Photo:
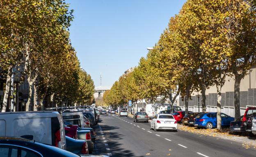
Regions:
<instances>
[{"instance_id":1,"label":"beige and grey building wall behind the right-hand tree trunks","mask_svg":"<svg viewBox=\"0 0 256 157\"><path fill-rule=\"evenodd\" d=\"M234 77L226 77L226 82L222 87L222 112L230 116L235 115L234 107ZM199 95L199 101L198 101ZM202 111L201 94L193 92L189 100L189 111L198 112L198 102L200 111ZM180 106L185 107L184 98L179 99ZM211 86L206 90L206 106L207 112L217 111L217 89L216 86ZM245 113L245 109L249 106L256 106L256 67L247 72L247 75L241 80L240 84L240 107L241 115ZM185 109L185 108L184 108Z\"/></svg>"}]
</instances>

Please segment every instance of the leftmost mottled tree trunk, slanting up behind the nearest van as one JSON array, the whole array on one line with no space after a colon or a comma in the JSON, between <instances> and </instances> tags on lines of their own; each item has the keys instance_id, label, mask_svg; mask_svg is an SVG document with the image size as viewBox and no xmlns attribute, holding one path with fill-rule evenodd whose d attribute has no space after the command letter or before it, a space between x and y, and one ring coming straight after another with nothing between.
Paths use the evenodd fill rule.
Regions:
<instances>
[{"instance_id":1,"label":"leftmost mottled tree trunk, slanting up behind the nearest van","mask_svg":"<svg viewBox=\"0 0 256 157\"><path fill-rule=\"evenodd\" d=\"M10 66L8 69L8 75L7 75L6 86L5 86L5 95L4 95L3 105L2 105L2 112L6 112L6 108L7 108L7 100L9 96L10 87L11 87L11 75L13 73L12 69L13 69L13 66Z\"/></svg>"}]
</instances>

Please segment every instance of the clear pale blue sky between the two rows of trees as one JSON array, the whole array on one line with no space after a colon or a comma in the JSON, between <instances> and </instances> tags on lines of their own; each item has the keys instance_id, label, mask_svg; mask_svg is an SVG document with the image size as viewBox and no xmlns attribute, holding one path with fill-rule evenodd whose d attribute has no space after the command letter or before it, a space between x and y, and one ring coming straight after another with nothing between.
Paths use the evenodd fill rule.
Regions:
<instances>
[{"instance_id":1,"label":"clear pale blue sky between the two rows of trees","mask_svg":"<svg viewBox=\"0 0 256 157\"><path fill-rule=\"evenodd\" d=\"M112 86L158 42L185 0L66 0L74 9L72 46L95 86Z\"/></svg>"}]
</instances>

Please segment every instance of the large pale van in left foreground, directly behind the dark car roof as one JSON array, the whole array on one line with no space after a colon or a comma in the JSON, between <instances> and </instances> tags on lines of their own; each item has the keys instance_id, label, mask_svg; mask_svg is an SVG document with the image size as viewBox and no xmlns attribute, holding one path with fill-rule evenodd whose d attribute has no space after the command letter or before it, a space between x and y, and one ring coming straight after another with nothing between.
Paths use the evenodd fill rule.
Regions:
<instances>
[{"instance_id":1,"label":"large pale van in left foreground, directly behind the dark car roof","mask_svg":"<svg viewBox=\"0 0 256 157\"><path fill-rule=\"evenodd\" d=\"M0 137L23 137L66 150L62 115L56 111L0 113Z\"/></svg>"}]
</instances>

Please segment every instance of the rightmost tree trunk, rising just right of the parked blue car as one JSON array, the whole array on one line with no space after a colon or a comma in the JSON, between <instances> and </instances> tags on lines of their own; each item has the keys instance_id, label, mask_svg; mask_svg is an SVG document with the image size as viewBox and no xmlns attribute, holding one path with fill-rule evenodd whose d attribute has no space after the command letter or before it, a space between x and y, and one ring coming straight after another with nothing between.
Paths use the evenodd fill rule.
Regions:
<instances>
[{"instance_id":1,"label":"rightmost tree trunk, rising just right of the parked blue car","mask_svg":"<svg viewBox=\"0 0 256 157\"><path fill-rule=\"evenodd\" d=\"M242 78L239 75L235 75L234 85L234 103L235 103L235 119L240 117L240 82Z\"/></svg>"}]
</instances>

